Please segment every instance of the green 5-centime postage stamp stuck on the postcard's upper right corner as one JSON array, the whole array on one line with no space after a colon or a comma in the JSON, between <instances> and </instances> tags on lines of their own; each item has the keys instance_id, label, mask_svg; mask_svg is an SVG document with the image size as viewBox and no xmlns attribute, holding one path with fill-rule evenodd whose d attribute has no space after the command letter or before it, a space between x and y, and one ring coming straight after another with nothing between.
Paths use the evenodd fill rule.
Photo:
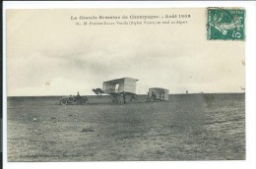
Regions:
<instances>
[{"instance_id":1,"label":"green 5-centime postage stamp stuck on the postcard's upper right corner","mask_svg":"<svg viewBox=\"0 0 256 169\"><path fill-rule=\"evenodd\" d=\"M244 40L244 19L244 9L207 8L207 39Z\"/></svg>"}]
</instances>

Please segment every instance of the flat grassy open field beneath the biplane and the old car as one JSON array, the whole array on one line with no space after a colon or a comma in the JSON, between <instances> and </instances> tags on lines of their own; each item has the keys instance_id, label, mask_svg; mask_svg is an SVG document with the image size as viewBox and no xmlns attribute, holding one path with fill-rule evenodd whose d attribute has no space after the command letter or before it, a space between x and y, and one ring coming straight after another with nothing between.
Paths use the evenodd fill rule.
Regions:
<instances>
[{"instance_id":1,"label":"flat grassy open field beneath the biplane and the old car","mask_svg":"<svg viewBox=\"0 0 256 169\"><path fill-rule=\"evenodd\" d=\"M8 161L243 160L245 98L176 94L169 101L59 105L8 97Z\"/></svg>"}]
</instances>

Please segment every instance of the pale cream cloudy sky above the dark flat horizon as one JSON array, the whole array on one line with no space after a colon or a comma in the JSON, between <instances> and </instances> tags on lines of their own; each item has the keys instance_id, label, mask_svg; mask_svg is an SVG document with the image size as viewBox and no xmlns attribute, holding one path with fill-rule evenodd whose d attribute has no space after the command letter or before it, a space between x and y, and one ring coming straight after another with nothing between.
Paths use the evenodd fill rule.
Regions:
<instances>
[{"instance_id":1,"label":"pale cream cloudy sky above the dark flat horizon","mask_svg":"<svg viewBox=\"0 0 256 169\"><path fill-rule=\"evenodd\" d=\"M171 19L184 25L142 26L76 26L71 20L165 14L191 18ZM139 80L140 94L149 87L170 94L243 92L244 41L206 37L205 9L10 10L7 95L91 95L102 82L124 77Z\"/></svg>"}]
</instances>

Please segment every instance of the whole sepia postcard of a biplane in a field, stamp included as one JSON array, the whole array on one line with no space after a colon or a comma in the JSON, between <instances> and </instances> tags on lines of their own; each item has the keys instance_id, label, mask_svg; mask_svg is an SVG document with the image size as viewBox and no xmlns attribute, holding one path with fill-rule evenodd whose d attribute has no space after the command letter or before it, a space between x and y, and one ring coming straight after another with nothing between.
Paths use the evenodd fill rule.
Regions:
<instances>
[{"instance_id":1,"label":"whole sepia postcard of a biplane in a field, stamp included","mask_svg":"<svg viewBox=\"0 0 256 169\"><path fill-rule=\"evenodd\" d=\"M8 9L8 162L246 160L246 9Z\"/></svg>"}]
</instances>

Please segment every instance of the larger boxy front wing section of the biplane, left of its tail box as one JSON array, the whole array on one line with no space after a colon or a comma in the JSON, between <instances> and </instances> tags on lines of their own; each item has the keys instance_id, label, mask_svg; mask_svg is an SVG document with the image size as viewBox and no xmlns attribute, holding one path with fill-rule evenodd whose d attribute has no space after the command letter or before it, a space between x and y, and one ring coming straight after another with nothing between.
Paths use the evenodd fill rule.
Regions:
<instances>
[{"instance_id":1,"label":"larger boxy front wing section of the biplane, left of its tail box","mask_svg":"<svg viewBox=\"0 0 256 169\"><path fill-rule=\"evenodd\" d=\"M136 82L139 80L133 78L121 78L111 81L103 82L102 89L92 89L99 97L101 94L109 94L112 96L113 102L120 102L119 96L123 96L124 103L126 102L126 95L131 96L131 100L136 95Z\"/></svg>"}]
</instances>

